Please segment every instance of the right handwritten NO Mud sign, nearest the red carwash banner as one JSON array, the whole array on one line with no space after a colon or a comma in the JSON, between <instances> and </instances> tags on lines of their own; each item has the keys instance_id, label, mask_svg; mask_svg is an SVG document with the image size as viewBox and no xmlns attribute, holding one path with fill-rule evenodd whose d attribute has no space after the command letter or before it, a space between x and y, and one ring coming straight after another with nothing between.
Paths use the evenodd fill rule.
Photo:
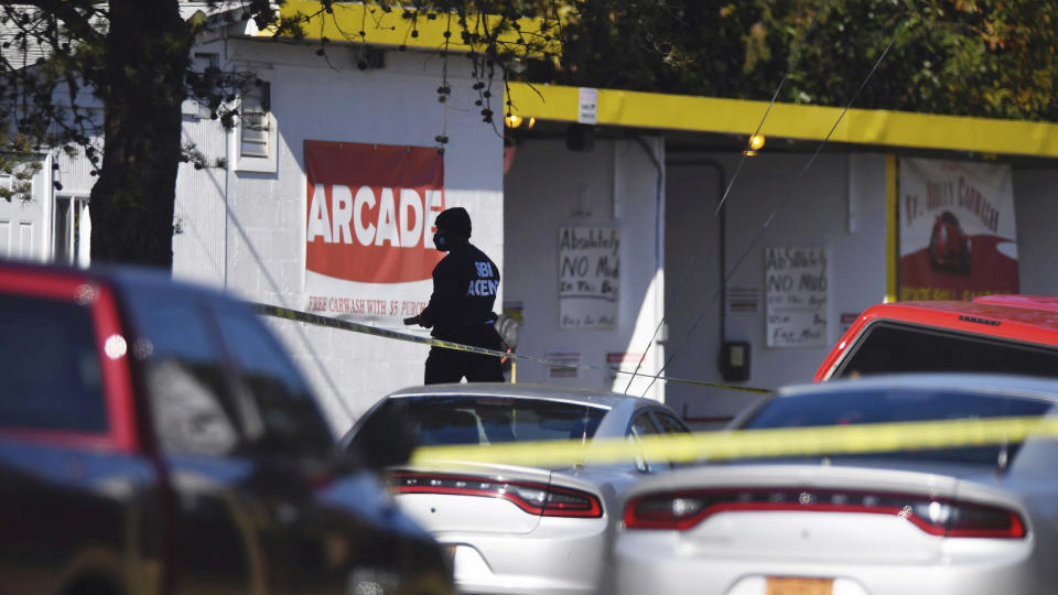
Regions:
<instances>
[{"instance_id":1,"label":"right handwritten NO Mud sign, nearest the red carwash banner","mask_svg":"<svg viewBox=\"0 0 1058 595\"><path fill-rule=\"evenodd\" d=\"M768 347L827 345L827 251L766 248Z\"/></svg>"}]
</instances>

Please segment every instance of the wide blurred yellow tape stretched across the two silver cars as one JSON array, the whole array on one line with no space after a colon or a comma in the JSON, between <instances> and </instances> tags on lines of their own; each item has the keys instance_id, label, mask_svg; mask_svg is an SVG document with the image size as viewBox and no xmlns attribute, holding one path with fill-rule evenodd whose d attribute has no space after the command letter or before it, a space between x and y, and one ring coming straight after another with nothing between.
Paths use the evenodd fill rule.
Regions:
<instances>
[{"instance_id":1,"label":"wide blurred yellow tape stretched across the two silver cars","mask_svg":"<svg viewBox=\"0 0 1058 595\"><path fill-rule=\"evenodd\" d=\"M647 461L692 463L734 458L884 453L986 446L1029 436L1058 437L1058 418L1019 416L904 423L738 430L490 445L429 446L414 452L414 465L493 463L555 467Z\"/></svg>"}]
</instances>

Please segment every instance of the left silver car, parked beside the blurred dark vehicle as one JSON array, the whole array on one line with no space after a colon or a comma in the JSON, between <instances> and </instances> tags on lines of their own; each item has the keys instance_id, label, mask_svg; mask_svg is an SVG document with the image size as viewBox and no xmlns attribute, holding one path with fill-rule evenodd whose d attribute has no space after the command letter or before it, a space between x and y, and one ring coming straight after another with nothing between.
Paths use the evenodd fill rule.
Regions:
<instances>
[{"instance_id":1,"label":"left silver car, parked beside the blurred dark vehicle","mask_svg":"<svg viewBox=\"0 0 1058 595\"><path fill-rule=\"evenodd\" d=\"M533 385L436 385L397 391L344 439L378 435L374 424L406 420L420 446L582 440L682 433L657 401ZM536 468L477 465L391 468L401 508L453 556L464 593L611 593L605 555L625 491L669 469L644 457L626 464Z\"/></svg>"}]
</instances>

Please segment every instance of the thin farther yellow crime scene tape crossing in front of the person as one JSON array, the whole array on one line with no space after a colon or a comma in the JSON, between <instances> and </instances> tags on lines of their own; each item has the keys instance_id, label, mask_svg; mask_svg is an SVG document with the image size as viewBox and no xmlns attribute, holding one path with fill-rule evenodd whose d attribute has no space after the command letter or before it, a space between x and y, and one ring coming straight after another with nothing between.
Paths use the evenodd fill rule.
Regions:
<instances>
[{"instance_id":1,"label":"thin farther yellow crime scene tape crossing in front of the person","mask_svg":"<svg viewBox=\"0 0 1058 595\"><path fill-rule=\"evenodd\" d=\"M388 328L379 328L377 326L371 326L368 324L355 323L352 321L343 321L341 318L334 318L332 316L321 316L320 314L312 314L309 312L301 312L298 310L291 310L289 307L281 307L271 304L259 304L251 303L253 309L257 310L258 314L263 314L267 316L274 316L278 318L285 318L288 321L301 322L306 324L313 324L317 326L327 326L331 328L341 328L344 331L352 331L354 333L361 333L365 335L373 335L376 337L385 337L397 340L406 340L410 343L420 343L422 345L429 345L431 347L441 347L444 349L454 349L456 351L469 351L472 354L482 354L493 357L509 357L515 360L522 361L535 361L537 364L543 364L546 366L551 366L554 368L565 368L565 369L582 369L582 370L596 370L596 371L609 371L614 374L622 374L626 376L636 376L640 378L652 378L656 380L663 380L666 382L679 382L682 385L692 385L695 387L705 387L705 388L717 388L724 390L734 390L741 392L752 392L755 394L766 394L771 392L768 389L762 388L752 388L752 387L736 387L732 385L722 385L716 382L705 382L703 380L690 380L687 378L673 378L671 376L656 376L651 374L643 372L631 372L622 370L618 368L612 367L601 367L601 366L590 366L586 364L570 364L569 361L555 361L551 359L544 359L541 357L533 357L529 355L521 354L508 354L507 351L500 351L498 349L487 349L485 347L475 347L473 345L463 345L462 343L454 343L451 340L443 340L433 337L423 337L420 335L412 335L411 333L401 333L399 331L390 331Z\"/></svg>"}]
</instances>

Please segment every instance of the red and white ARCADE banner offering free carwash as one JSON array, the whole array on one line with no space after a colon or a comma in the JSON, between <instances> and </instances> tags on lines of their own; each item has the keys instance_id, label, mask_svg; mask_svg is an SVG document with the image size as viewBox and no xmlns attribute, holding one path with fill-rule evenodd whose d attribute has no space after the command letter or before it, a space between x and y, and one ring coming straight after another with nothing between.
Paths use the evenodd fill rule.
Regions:
<instances>
[{"instance_id":1,"label":"red and white ARCADE banner offering free carwash","mask_svg":"<svg viewBox=\"0 0 1058 595\"><path fill-rule=\"evenodd\" d=\"M444 161L429 147L305 141L307 310L397 325L432 291Z\"/></svg>"}]
</instances>

